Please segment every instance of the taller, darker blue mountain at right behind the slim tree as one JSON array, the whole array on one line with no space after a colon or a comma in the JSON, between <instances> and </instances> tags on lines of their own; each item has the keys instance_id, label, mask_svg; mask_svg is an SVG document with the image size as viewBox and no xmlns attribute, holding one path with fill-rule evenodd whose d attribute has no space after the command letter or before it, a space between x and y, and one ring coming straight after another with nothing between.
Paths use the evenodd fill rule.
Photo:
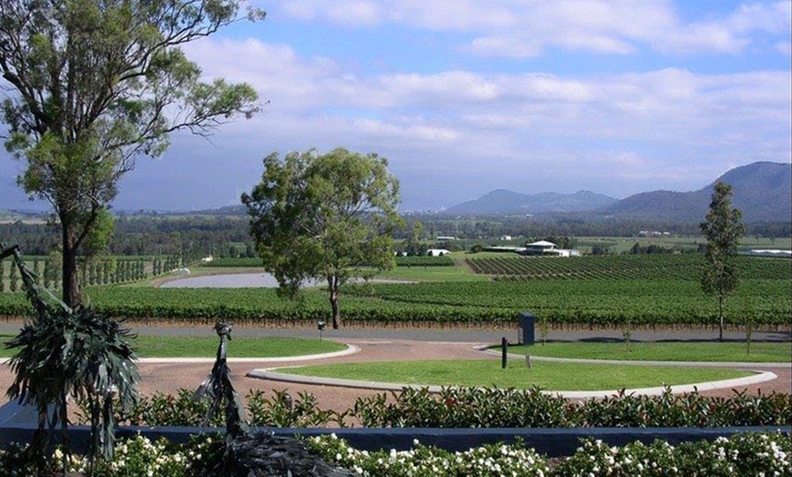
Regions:
<instances>
[{"instance_id":1,"label":"taller, darker blue mountain at right behind the slim tree","mask_svg":"<svg viewBox=\"0 0 792 477\"><path fill-rule=\"evenodd\" d=\"M701 221L718 181L734 188L732 204L742 210L744 222L792 220L792 165L775 162L755 162L736 167L705 188L692 192L655 190L635 194L600 212L614 218Z\"/></svg>"}]
</instances>

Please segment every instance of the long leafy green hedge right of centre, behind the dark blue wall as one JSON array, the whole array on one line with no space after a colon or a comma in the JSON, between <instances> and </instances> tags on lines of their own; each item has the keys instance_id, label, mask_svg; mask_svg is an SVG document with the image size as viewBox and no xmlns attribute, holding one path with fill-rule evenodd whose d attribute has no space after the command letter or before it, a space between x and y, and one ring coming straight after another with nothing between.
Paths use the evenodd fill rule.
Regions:
<instances>
[{"instance_id":1,"label":"long leafy green hedge right of centre, behind the dark blue wall","mask_svg":"<svg viewBox=\"0 0 792 477\"><path fill-rule=\"evenodd\" d=\"M620 393L602 400L567 401L543 393L499 388L405 388L355 401L364 427L728 427L792 424L788 394L708 398L697 392L660 396Z\"/></svg>"}]
</instances>

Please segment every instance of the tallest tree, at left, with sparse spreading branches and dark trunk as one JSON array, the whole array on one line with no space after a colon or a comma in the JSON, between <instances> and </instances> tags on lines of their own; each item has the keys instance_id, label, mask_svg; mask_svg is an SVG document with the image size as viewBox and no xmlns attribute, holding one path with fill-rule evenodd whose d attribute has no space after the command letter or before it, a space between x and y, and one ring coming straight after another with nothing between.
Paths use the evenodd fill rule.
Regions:
<instances>
[{"instance_id":1,"label":"tallest tree, at left, with sparse spreading branches and dark trunk","mask_svg":"<svg viewBox=\"0 0 792 477\"><path fill-rule=\"evenodd\" d=\"M252 87L202 83L179 48L236 21L240 1L0 2L5 147L25 160L19 184L60 223L70 307L77 249L135 160L160 156L172 132L206 136L257 109Z\"/></svg>"}]
</instances>

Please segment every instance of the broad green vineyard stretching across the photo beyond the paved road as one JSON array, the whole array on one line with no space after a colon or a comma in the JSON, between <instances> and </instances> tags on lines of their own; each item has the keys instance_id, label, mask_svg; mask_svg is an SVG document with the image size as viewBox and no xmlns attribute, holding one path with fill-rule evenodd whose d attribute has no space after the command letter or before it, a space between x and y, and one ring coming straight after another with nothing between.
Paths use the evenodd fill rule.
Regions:
<instances>
[{"instance_id":1,"label":"broad green vineyard stretching across the photo beyond the paved road","mask_svg":"<svg viewBox=\"0 0 792 477\"><path fill-rule=\"evenodd\" d=\"M360 326L501 326L513 324L522 311L551 326L712 326L716 302L698 283L701 260L698 255L482 257L469 259L469 265L479 273L490 270L495 281L350 284L341 289L340 308L347 324ZM750 320L768 330L788 330L790 260L743 258L740 275L735 295L726 300L726 322L744 326ZM327 320L330 313L320 288L289 300L275 289L105 285L86 288L86 297L118 318L152 323L234 320L289 326ZM24 293L6 289L0 294L0 316L31 312Z\"/></svg>"}]
</instances>

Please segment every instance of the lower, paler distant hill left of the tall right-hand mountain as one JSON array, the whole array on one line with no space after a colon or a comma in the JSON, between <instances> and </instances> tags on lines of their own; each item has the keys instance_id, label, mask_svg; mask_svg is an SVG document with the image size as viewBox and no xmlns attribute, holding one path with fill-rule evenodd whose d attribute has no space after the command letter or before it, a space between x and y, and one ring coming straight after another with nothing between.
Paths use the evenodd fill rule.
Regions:
<instances>
[{"instance_id":1,"label":"lower, paler distant hill left of the tall right-hand mountain","mask_svg":"<svg viewBox=\"0 0 792 477\"><path fill-rule=\"evenodd\" d=\"M616 201L602 194L581 190L574 194L520 194L498 189L480 198L462 202L442 211L448 215L541 214L545 212L583 212L604 208Z\"/></svg>"}]
</instances>

